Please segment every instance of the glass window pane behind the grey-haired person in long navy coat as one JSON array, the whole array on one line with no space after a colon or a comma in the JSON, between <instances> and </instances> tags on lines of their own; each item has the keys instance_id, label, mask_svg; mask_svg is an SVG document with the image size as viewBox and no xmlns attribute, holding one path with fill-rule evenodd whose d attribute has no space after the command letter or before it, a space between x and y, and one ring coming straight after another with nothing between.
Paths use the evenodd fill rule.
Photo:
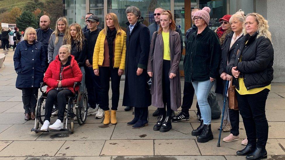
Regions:
<instances>
[{"instance_id":1,"label":"glass window pane behind the grey-haired person in long navy coat","mask_svg":"<svg viewBox=\"0 0 285 160\"><path fill-rule=\"evenodd\" d=\"M140 8L142 17L144 18L143 24L149 26L154 23L154 9L161 7L170 10L170 0L108 0L108 13L115 13L118 17L120 26L125 28L126 22L126 8L129 6L136 6Z\"/></svg>"}]
</instances>

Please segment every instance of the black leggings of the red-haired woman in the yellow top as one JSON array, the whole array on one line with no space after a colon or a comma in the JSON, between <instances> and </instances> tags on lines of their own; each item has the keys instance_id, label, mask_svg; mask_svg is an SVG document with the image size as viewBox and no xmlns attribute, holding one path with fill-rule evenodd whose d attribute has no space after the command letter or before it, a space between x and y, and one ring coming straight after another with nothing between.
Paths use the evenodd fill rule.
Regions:
<instances>
[{"instance_id":1,"label":"black leggings of the red-haired woman in the yellow top","mask_svg":"<svg viewBox=\"0 0 285 160\"><path fill-rule=\"evenodd\" d=\"M164 115L167 112L167 116L171 116L172 110L171 110L171 102L170 102L170 80L169 80L169 71L170 71L170 61L169 60L163 60L162 65L162 101L164 104L164 108L159 108L160 115Z\"/></svg>"}]
</instances>

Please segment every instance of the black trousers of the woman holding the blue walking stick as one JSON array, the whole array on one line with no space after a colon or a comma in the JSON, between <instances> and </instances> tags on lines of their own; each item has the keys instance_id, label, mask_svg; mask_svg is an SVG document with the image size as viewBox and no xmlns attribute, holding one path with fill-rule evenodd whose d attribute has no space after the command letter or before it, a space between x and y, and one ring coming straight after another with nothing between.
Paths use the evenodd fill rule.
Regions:
<instances>
[{"instance_id":1,"label":"black trousers of the woman holding the blue walking stick","mask_svg":"<svg viewBox=\"0 0 285 160\"><path fill-rule=\"evenodd\" d=\"M232 125L231 133L234 136L239 135L239 110L233 110L229 108L229 117Z\"/></svg>"}]
</instances>

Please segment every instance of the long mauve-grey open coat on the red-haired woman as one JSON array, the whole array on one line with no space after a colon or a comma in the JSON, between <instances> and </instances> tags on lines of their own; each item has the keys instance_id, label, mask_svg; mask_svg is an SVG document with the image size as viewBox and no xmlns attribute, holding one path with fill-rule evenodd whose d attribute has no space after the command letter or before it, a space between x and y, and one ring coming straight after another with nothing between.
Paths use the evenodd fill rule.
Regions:
<instances>
[{"instance_id":1,"label":"long mauve-grey open coat on the red-haired woman","mask_svg":"<svg viewBox=\"0 0 285 160\"><path fill-rule=\"evenodd\" d=\"M163 39L162 35L158 34L155 42L154 53L154 36L152 35L150 45L150 55L148 59L147 72L153 72L152 86L150 93L152 94L152 106L157 108L163 108L162 101L162 63L163 63ZM176 31L169 30L169 47L170 47L170 63L171 68L168 73L175 73L176 77L170 79L170 98L171 109L177 111L181 106L181 85L180 85L180 73L179 73L179 61L180 61L180 37Z\"/></svg>"}]
</instances>

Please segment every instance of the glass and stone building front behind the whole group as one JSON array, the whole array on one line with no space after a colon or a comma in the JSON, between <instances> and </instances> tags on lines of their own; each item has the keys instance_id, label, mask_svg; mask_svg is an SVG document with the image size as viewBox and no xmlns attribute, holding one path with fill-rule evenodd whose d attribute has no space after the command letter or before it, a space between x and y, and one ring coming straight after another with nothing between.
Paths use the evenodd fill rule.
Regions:
<instances>
[{"instance_id":1,"label":"glass and stone building front behind the whole group","mask_svg":"<svg viewBox=\"0 0 285 160\"><path fill-rule=\"evenodd\" d=\"M128 6L137 6L144 17L144 24L154 23L154 9L161 7L174 13L174 20L179 25L183 41L185 32L191 27L191 9L211 8L209 27L216 29L220 26L218 20L225 14L234 14L242 9L247 13L260 13L269 22L274 47L274 82L285 82L285 59L283 57L283 46L285 39L285 6L284 0L63 0L63 13L69 24L79 23L81 27L85 24L85 15L91 12L100 18L100 27L104 27L104 17L107 13L115 13L119 19L120 26L125 29L125 10ZM184 45L184 44L183 44ZM281 47L282 46L282 47ZM185 54L185 51L183 52ZM183 58L180 62L180 70L183 69ZM183 70L180 72L183 75Z\"/></svg>"}]
</instances>

